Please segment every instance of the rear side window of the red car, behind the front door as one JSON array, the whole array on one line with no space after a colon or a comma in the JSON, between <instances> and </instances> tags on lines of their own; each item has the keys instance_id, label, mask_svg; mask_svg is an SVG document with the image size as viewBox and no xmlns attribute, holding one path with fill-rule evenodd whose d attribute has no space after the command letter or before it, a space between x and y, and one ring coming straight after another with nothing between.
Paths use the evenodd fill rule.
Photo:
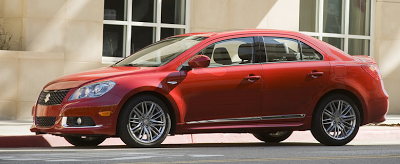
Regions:
<instances>
[{"instance_id":1,"label":"rear side window of the red car, behind the front door","mask_svg":"<svg viewBox=\"0 0 400 164\"><path fill-rule=\"evenodd\" d=\"M322 55L296 39L263 37L267 62L322 60Z\"/></svg>"}]
</instances>

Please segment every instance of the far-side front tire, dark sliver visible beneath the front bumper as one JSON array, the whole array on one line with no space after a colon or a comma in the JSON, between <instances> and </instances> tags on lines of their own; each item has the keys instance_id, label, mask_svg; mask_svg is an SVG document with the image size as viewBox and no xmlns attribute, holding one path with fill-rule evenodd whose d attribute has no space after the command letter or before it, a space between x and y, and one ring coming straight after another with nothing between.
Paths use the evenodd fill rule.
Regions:
<instances>
[{"instance_id":1,"label":"far-side front tire, dark sliver visible beneath the front bumper","mask_svg":"<svg viewBox=\"0 0 400 164\"><path fill-rule=\"evenodd\" d=\"M101 144L106 136L64 136L70 144L74 146L97 146Z\"/></svg>"}]
</instances>

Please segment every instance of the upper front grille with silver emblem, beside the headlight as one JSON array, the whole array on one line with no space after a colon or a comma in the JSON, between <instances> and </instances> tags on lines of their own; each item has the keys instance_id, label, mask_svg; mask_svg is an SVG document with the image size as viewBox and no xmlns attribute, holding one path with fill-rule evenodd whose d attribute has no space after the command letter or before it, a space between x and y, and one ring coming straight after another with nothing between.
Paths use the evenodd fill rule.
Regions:
<instances>
[{"instance_id":1,"label":"upper front grille with silver emblem, beside the headlight","mask_svg":"<svg viewBox=\"0 0 400 164\"><path fill-rule=\"evenodd\" d=\"M55 90L55 91L42 91L39 97L39 105L59 105L68 94L69 89Z\"/></svg>"}]
</instances>

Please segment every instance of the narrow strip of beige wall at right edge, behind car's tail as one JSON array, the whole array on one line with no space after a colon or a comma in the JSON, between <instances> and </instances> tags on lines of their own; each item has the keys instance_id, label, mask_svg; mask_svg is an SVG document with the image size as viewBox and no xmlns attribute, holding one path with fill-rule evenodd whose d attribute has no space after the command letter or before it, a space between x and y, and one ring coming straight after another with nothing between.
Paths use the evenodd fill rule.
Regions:
<instances>
[{"instance_id":1,"label":"narrow strip of beige wall at right edge, behind car's tail","mask_svg":"<svg viewBox=\"0 0 400 164\"><path fill-rule=\"evenodd\" d=\"M389 113L400 114L400 0L377 0L375 59L390 97Z\"/></svg>"}]
</instances>

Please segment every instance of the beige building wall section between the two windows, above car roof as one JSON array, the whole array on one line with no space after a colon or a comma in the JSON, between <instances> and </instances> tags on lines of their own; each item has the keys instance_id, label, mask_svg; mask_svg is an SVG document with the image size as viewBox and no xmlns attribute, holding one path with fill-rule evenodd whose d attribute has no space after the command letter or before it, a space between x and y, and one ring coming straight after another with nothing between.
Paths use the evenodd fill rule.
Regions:
<instances>
[{"instance_id":1,"label":"beige building wall section between the two windows, above car roof","mask_svg":"<svg viewBox=\"0 0 400 164\"><path fill-rule=\"evenodd\" d=\"M246 28L298 31L299 5L299 0L192 0L191 32Z\"/></svg>"}]
</instances>

